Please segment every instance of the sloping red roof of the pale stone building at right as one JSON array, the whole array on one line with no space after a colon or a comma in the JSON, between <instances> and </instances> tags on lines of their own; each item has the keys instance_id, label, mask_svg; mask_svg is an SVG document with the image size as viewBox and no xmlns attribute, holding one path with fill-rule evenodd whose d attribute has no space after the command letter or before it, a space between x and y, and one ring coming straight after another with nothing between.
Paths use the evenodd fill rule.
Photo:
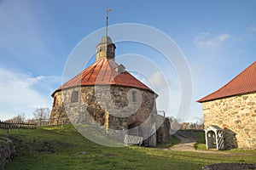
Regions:
<instances>
[{"instance_id":1,"label":"sloping red roof of the pale stone building at right","mask_svg":"<svg viewBox=\"0 0 256 170\"><path fill-rule=\"evenodd\" d=\"M236 94L248 94L256 92L256 61L253 65L247 67L238 76L233 78L224 87L219 88L216 92L197 100L197 102L206 102L214 99L234 96Z\"/></svg>"}]
</instances>

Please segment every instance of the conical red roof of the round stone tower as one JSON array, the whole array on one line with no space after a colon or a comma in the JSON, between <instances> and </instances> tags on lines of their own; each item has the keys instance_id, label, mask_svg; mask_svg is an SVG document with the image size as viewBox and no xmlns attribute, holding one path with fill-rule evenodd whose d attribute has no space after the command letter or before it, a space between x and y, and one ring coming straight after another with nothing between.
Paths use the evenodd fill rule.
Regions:
<instances>
[{"instance_id":1,"label":"conical red roof of the round stone tower","mask_svg":"<svg viewBox=\"0 0 256 170\"><path fill-rule=\"evenodd\" d=\"M119 65L113 59L98 59L93 65L90 65L87 69L80 72L79 75L73 77L73 79L56 89L52 96L62 89L90 85L119 85L141 88L154 93L154 91L143 84L143 82L131 76L128 71L119 73L116 69L118 66Z\"/></svg>"}]
</instances>

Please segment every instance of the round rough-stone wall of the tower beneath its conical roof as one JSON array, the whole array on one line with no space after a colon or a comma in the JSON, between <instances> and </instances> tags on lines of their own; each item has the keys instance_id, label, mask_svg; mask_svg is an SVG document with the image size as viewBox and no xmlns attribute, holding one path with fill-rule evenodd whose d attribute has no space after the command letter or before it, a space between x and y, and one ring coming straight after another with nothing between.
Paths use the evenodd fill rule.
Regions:
<instances>
[{"instance_id":1,"label":"round rough-stone wall of the tower beneath its conical roof","mask_svg":"<svg viewBox=\"0 0 256 170\"><path fill-rule=\"evenodd\" d=\"M78 102L71 103L73 92L79 92ZM154 93L137 88L86 86L62 90L54 97L51 123L66 121L68 115L73 123L95 122L106 129L122 130L132 123L145 122L151 114L156 115Z\"/></svg>"}]
</instances>

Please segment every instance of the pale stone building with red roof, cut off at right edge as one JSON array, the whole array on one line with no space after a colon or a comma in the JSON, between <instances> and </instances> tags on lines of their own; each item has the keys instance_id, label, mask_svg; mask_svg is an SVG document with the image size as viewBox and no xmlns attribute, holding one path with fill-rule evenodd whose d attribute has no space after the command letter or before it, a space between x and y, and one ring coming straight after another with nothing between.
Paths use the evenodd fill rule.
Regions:
<instances>
[{"instance_id":1,"label":"pale stone building with red roof, cut off at right edge","mask_svg":"<svg viewBox=\"0 0 256 170\"><path fill-rule=\"evenodd\" d=\"M223 129L225 149L256 149L256 62L198 102L205 127Z\"/></svg>"}]
</instances>

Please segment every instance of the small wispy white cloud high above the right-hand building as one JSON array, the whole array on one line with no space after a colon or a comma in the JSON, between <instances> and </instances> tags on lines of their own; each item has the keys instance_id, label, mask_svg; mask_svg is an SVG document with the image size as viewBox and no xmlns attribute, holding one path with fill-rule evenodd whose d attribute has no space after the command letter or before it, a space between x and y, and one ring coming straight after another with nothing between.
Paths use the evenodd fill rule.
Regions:
<instances>
[{"instance_id":1,"label":"small wispy white cloud high above the right-hand building","mask_svg":"<svg viewBox=\"0 0 256 170\"><path fill-rule=\"evenodd\" d=\"M218 48L230 38L229 34L220 34L218 37L209 38L209 32L201 32L193 41L199 48Z\"/></svg>"}]
</instances>

